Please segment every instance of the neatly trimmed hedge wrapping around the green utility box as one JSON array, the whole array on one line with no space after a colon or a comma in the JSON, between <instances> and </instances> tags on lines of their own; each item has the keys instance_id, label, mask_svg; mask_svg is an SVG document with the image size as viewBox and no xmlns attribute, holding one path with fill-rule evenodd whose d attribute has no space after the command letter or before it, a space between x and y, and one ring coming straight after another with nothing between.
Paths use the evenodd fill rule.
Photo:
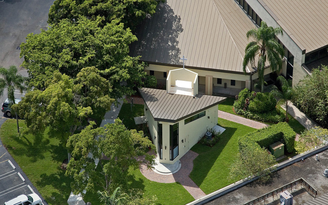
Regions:
<instances>
[{"instance_id":1,"label":"neatly trimmed hedge wrapping around the green utility box","mask_svg":"<svg viewBox=\"0 0 328 205\"><path fill-rule=\"evenodd\" d=\"M279 122L270 127L241 136L238 140L239 151L246 146L253 146L254 143L260 147L268 148L269 145L283 138L286 151L292 153L294 151L295 137L296 133L286 122Z\"/></svg>"}]
</instances>

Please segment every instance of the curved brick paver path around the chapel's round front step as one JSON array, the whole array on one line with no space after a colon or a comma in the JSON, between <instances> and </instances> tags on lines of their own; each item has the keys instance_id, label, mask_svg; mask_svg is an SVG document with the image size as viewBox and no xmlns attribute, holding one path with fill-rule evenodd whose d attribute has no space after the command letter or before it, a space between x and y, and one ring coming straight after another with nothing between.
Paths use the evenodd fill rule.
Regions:
<instances>
[{"instance_id":1,"label":"curved brick paver path around the chapel's round front step","mask_svg":"<svg viewBox=\"0 0 328 205\"><path fill-rule=\"evenodd\" d=\"M147 170L144 164L140 166L140 172L149 180L160 183L179 182L195 199L205 196L205 193L195 184L189 174L194 167L194 159L198 156L197 153L189 150L181 157L181 168L178 172L170 175L157 174L153 170Z\"/></svg>"}]
</instances>

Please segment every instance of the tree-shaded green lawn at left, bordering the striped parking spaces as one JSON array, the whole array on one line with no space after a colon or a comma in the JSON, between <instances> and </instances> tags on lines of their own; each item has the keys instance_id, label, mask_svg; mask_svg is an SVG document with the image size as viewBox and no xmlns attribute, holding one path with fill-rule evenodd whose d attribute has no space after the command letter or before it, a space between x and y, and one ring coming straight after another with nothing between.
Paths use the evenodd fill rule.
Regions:
<instances>
[{"instance_id":1,"label":"tree-shaded green lawn at left, bordering the striped parking spaces","mask_svg":"<svg viewBox=\"0 0 328 205\"><path fill-rule=\"evenodd\" d=\"M23 120L19 120L19 127L26 127ZM0 136L8 152L44 199L53 205L67 204L71 179L60 168L63 160L67 159L67 150L61 142L65 139L49 129L42 135L19 137L16 120L13 119L1 126Z\"/></svg>"}]
</instances>

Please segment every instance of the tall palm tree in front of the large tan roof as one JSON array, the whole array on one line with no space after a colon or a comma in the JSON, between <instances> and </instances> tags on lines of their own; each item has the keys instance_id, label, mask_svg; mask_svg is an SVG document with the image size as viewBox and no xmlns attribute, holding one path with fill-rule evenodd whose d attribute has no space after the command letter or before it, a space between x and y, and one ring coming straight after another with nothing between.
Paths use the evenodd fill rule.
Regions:
<instances>
[{"instance_id":1,"label":"tall palm tree in front of the large tan roof","mask_svg":"<svg viewBox=\"0 0 328 205\"><path fill-rule=\"evenodd\" d=\"M261 92L263 92L264 85L264 69L265 62L270 63L272 71L280 71L282 69L282 57L284 56L284 49L275 39L275 35L282 35L282 28L268 27L262 21L261 27L254 28L247 31L247 39L252 37L254 41L249 42L245 48L245 57L243 61L243 71L246 72L246 66L251 63L255 67L255 57L258 56L257 72Z\"/></svg>"}]
</instances>

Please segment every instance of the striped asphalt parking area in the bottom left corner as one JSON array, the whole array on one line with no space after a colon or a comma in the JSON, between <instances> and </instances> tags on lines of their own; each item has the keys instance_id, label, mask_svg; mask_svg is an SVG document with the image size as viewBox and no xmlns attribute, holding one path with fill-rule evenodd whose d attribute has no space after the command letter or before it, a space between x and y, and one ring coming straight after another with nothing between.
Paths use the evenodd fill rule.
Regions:
<instances>
[{"instance_id":1,"label":"striped asphalt parking area in the bottom left corner","mask_svg":"<svg viewBox=\"0 0 328 205\"><path fill-rule=\"evenodd\" d=\"M6 120L7 118L0 117L0 125ZM39 195L43 204L47 205L0 141L0 204L4 204L15 196L32 193Z\"/></svg>"}]
</instances>

